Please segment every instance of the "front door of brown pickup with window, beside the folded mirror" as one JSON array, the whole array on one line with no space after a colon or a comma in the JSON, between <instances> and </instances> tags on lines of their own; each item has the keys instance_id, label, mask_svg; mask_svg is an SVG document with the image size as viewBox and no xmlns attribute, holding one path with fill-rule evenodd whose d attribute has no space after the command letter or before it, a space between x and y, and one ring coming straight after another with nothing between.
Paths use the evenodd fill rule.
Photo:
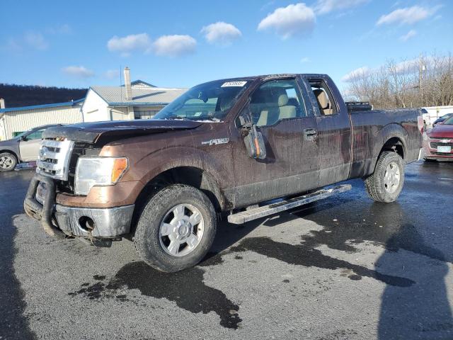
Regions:
<instances>
[{"instance_id":1,"label":"front door of brown pickup with window, beside the folded mirror","mask_svg":"<svg viewBox=\"0 0 453 340\"><path fill-rule=\"evenodd\" d=\"M239 115L244 112L251 113L253 123L263 134L266 157L249 156L237 119L231 131L236 144L233 151L235 205L249 205L316 188L319 177L316 118L306 110L296 79L263 82Z\"/></svg>"}]
</instances>

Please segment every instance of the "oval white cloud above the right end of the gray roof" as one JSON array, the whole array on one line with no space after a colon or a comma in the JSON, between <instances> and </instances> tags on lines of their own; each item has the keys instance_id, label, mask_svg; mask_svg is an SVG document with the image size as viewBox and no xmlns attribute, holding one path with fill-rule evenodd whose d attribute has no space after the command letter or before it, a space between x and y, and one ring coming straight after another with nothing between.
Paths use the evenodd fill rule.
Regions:
<instances>
[{"instance_id":1,"label":"oval white cloud above the right end of the gray roof","mask_svg":"<svg viewBox=\"0 0 453 340\"><path fill-rule=\"evenodd\" d=\"M162 35L153 42L152 50L156 55L180 57L195 52L196 45L190 35Z\"/></svg>"}]
</instances>

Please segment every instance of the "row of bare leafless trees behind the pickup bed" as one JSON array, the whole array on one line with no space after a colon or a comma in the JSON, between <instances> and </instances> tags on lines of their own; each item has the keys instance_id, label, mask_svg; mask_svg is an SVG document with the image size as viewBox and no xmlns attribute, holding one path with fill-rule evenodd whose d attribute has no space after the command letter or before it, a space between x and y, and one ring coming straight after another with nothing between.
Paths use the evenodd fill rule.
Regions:
<instances>
[{"instance_id":1,"label":"row of bare leafless trees behind the pickup bed","mask_svg":"<svg viewBox=\"0 0 453 340\"><path fill-rule=\"evenodd\" d=\"M453 105L453 57L420 55L389 60L375 69L362 67L343 77L348 101L369 101L374 108Z\"/></svg>"}]
</instances>

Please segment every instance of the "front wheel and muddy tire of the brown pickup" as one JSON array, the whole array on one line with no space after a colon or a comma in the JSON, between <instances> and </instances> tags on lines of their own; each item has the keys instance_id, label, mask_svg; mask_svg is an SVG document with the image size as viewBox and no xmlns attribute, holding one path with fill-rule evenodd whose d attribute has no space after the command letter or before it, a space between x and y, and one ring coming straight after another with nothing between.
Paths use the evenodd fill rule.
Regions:
<instances>
[{"instance_id":1,"label":"front wheel and muddy tire of the brown pickup","mask_svg":"<svg viewBox=\"0 0 453 340\"><path fill-rule=\"evenodd\" d=\"M173 184L157 192L143 208L134 245L149 266L168 273L181 271L206 256L216 227L210 199L193 186Z\"/></svg>"}]
</instances>

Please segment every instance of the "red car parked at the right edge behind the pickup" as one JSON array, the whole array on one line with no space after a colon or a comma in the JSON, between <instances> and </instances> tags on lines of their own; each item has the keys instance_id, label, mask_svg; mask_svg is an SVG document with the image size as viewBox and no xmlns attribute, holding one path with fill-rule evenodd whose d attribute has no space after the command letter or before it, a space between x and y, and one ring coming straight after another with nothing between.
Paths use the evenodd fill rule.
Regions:
<instances>
[{"instance_id":1,"label":"red car parked at the right edge behind the pickup","mask_svg":"<svg viewBox=\"0 0 453 340\"><path fill-rule=\"evenodd\" d=\"M427 135L425 160L453 159L453 117L438 123Z\"/></svg>"}]
</instances>

